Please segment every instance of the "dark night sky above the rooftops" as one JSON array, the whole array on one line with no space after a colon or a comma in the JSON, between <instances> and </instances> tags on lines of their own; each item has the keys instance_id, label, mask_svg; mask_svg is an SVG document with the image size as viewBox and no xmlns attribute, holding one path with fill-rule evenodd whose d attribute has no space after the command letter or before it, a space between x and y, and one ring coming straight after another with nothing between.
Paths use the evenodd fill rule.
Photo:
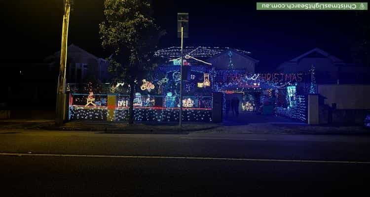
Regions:
<instances>
[{"instance_id":1,"label":"dark night sky above the rooftops","mask_svg":"<svg viewBox=\"0 0 370 197\"><path fill-rule=\"evenodd\" d=\"M60 50L63 0L0 0L1 64L42 61ZM354 11L256 11L255 1L153 0L158 25L167 31L160 47L179 45L178 11L189 12L190 38L185 45L228 46L251 51L262 70L271 69L312 48L350 61L357 27ZM369 11L366 13L369 16ZM99 23L103 0L75 0L69 44L105 58ZM366 19L362 19L366 20Z\"/></svg>"}]
</instances>

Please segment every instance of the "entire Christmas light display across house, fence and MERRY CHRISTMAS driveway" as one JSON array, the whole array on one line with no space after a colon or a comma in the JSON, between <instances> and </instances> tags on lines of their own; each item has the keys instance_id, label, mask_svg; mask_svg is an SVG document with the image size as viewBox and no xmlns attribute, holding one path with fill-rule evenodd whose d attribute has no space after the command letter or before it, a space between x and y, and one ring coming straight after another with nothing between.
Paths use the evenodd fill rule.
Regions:
<instances>
[{"instance_id":1,"label":"entire Christmas light display across house, fence and MERRY CHRISTMAS driveway","mask_svg":"<svg viewBox=\"0 0 370 197\"><path fill-rule=\"evenodd\" d=\"M183 84L184 95L181 102L179 101L180 87L178 85L182 78L179 66L181 65L180 47L157 51L156 56L164 58L166 63L158 66L158 72L154 72L153 75L144 79L143 84L135 86L140 87L139 91L150 92L155 89L150 93L150 96L144 96L148 92L141 92L143 95L135 94L133 103L135 120L178 121L179 107L182 105L185 108L184 121L211 121L212 97L210 97L211 99L206 97L212 95L212 92L252 95L251 98L253 99L244 99L243 97L241 101L242 109L245 111L258 111L260 106L263 108L265 104L274 106L278 115L284 114L297 120L305 120L306 99L303 96L296 96L296 94L297 90L299 90L299 94L303 95L308 94L308 92L310 94L316 92L313 66L311 71L307 73L250 73L247 70L235 70L232 60L236 52L234 50L225 51L228 49L227 47L185 48L184 66L189 66L189 80L186 80ZM249 54L249 52L237 51L238 53ZM226 65L224 66L227 66L227 70L216 70L210 63L202 61L221 53L225 53ZM308 80L308 73L311 74L311 84ZM110 84L110 87L114 89L112 92L117 94L123 93L123 91L130 92L130 88L127 90L119 88L123 85L123 83ZM301 88L302 86L305 86L304 90ZM299 89L296 87L299 87ZM87 89L81 92L87 93L92 88L94 87L89 85ZM118 88L119 90L116 90ZM69 89L72 90L72 87ZM263 95L264 91L265 95ZM127 93L124 92L123 94ZM87 95L74 99L76 104L71 106L70 117L73 119L77 117L79 119L102 119L103 111L107 108L103 108L107 105L107 100L103 97L98 96L95 97L95 100L90 99L92 100L90 103ZM117 96L117 105L114 110L116 121L127 120L129 100L128 96ZM81 104L81 102L83 103ZM83 108L84 106L86 107Z\"/></svg>"}]
</instances>

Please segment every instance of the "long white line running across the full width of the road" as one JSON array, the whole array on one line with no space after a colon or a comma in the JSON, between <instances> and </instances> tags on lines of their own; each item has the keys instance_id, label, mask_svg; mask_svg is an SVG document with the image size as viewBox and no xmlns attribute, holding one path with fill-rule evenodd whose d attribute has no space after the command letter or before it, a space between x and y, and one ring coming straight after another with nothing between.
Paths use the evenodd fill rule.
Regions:
<instances>
[{"instance_id":1,"label":"long white line running across the full width of the road","mask_svg":"<svg viewBox=\"0 0 370 197\"><path fill-rule=\"evenodd\" d=\"M172 157L172 156L125 156L125 155L71 155L71 154L25 154L0 153L0 156L38 156L38 157L86 157L86 158L136 158L136 159L185 159L185 160L225 160L248 162L299 162L299 163L329 163L329 164L370 164L370 162L355 161L324 161L324 160L277 160L277 159L250 159L250 158L212 158L212 157Z\"/></svg>"}]
</instances>

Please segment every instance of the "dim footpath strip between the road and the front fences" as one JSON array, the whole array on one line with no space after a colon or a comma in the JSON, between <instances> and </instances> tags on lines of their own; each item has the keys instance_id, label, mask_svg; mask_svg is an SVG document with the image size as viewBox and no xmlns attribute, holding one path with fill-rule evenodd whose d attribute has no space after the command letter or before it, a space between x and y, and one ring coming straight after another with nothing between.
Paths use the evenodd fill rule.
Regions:
<instances>
[{"instance_id":1,"label":"dim footpath strip between the road and the front fences","mask_svg":"<svg viewBox=\"0 0 370 197\"><path fill-rule=\"evenodd\" d=\"M56 127L53 120L0 120L0 130L46 130L46 131L99 131L107 133L263 133L263 134L370 134L362 126L310 126L302 123L250 123L234 125L230 123L185 123L179 128L178 123L107 123L107 122L68 122Z\"/></svg>"}]
</instances>

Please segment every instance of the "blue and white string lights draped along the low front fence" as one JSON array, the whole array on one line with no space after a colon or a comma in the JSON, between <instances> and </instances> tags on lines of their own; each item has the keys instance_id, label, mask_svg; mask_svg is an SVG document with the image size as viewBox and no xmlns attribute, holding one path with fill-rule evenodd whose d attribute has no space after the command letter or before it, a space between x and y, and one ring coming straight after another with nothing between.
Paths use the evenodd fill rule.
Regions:
<instances>
[{"instance_id":1,"label":"blue and white string lights draped along the low front fence","mask_svg":"<svg viewBox=\"0 0 370 197\"><path fill-rule=\"evenodd\" d=\"M89 107L84 105L76 105L81 103L89 95L76 94L73 95L73 100L70 101L70 120L100 120L107 121L110 117L107 113L107 106ZM103 98L104 97L104 98ZM98 95L102 103L107 104L107 95ZM85 99L83 99L85 98ZM156 122L169 122L178 121L179 108L177 106L176 96L171 92L166 94L163 99L163 106L156 107L155 99L161 97L155 96L142 96L140 93L135 94L134 99L134 118L136 121L156 121ZM128 95L117 95L118 103L114 109L114 121L127 121L128 120ZM212 97L192 97L185 98L185 109L183 113L183 121L194 122L211 122L212 121ZM75 104L75 103L76 104ZM197 107L197 108L194 108Z\"/></svg>"}]
</instances>

